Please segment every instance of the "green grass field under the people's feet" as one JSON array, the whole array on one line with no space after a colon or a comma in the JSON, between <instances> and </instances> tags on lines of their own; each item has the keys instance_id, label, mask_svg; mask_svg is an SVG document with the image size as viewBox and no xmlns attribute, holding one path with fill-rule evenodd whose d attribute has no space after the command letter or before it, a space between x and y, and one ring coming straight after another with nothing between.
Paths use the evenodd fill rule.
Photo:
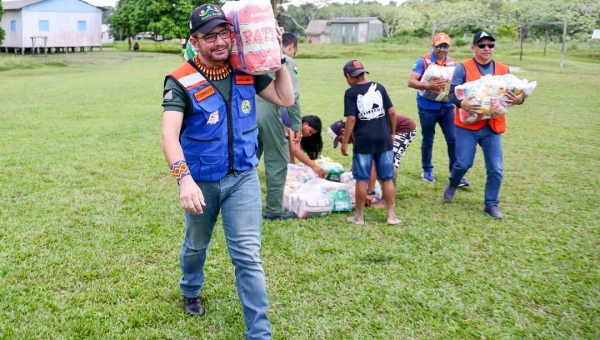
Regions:
<instances>
[{"instance_id":1,"label":"green grass field under the people's feet","mask_svg":"<svg viewBox=\"0 0 600 340\"><path fill-rule=\"evenodd\" d=\"M326 126L342 118L342 66L358 55L397 111L418 120L406 80L426 44L300 48L304 114ZM497 50L538 82L507 116L505 219L481 212L480 152L472 186L443 203L443 137L430 183L419 135L399 169L400 226L372 209L364 227L348 224L349 213L264 223L276 339L600 338L600 63L567 57L559 68L555 52L520 62L518 50ZM45 60L0 55L12 65L0 72L0 338L242 338L220 228L207 314L182 310L183 214L160 148L163 79L181 57L105 50ZM349 168L324 141L324 155Z\"/></svg>"}]
</instances>

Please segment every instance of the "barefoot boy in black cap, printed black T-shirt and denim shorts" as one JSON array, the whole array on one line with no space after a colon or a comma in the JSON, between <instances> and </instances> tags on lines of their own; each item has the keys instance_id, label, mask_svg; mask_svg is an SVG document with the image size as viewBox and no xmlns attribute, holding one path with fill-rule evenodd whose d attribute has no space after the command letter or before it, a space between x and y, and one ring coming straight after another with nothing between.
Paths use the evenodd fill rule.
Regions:
<instances>
[{"instance_id":1,"label":"barefoot boy in black cap, printed black T-shirt and denim shorts","mask_svg":"<svg viewBox=\"0 0 600 340\"><path fill-rule=\"evenodd\" d=\"M348 141L354 133L352 175L356 180L356 215L348 221L363 225L367 199L367 184L371 166L375 163L381 181L383 198L387 203L387 223L398 224L394 211L394 152L396 111L383 85L368 81L362 63L350 60L344 65L344 77L350 88L344 94L346 131L342 140L342 154L348 156Z\"/></svg>"}]
</instances>

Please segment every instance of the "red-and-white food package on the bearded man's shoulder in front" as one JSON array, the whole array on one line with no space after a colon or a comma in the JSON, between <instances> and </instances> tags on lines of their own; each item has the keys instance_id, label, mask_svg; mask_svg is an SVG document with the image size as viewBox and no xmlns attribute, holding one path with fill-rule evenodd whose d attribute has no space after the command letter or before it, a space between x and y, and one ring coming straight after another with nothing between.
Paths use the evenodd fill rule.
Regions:
<instances>
[{"instance_id":1,"label":"red-and-white food package on the bearded man's shoulder in front","mask_svg":"<svg viewBox=\"0 0 600 340\"><path fill-rule=\"evenodd\" d=\"M281 68L276 20L267 0L227 1L222 7L233 25L229 62L234 69L249 74L265 74Z\"/></svg>"}]
</instances>

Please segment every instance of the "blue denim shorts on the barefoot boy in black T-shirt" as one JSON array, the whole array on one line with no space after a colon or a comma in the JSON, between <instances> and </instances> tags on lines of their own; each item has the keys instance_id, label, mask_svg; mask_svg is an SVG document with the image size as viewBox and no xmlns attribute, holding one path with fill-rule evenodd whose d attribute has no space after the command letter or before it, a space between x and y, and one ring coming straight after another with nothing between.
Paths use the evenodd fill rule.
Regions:
<instances>
[{"instance_id":1,"label":"blue denim shorts on the barefoot boy in black T-shirt","mask_svg":"<svg viewBox=\"0 0 600 340\"><path fill-rule=\"evenodd\" d=\"M359 182L368 182L371 178L371 166L375 161L377 178L381 181L394 179L394 151L376 153L354 153L352 156L352 176Z\"/></svg>"}]
</instances>

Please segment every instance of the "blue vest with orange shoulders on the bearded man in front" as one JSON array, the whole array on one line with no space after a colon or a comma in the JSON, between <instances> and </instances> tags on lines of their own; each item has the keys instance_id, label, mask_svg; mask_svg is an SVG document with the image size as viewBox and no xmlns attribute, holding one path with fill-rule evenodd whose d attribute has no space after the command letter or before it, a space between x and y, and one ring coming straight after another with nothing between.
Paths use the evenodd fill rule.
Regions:
<instances>
[{"instance_id":1,"label":"blue vest with orange shoulders on the bearded man in front","mask_svg":"<svg viewBox=\"0 0 600 340\"><path fill-rule=\"evenodd\" d=\"M192 64L190 60L167 76L186 89L192 103L192 113L184 116L179 136L192 178L219 181L233 170L256 167L254 76L233 73L228 105L217 88Z\"/></svg>"}]
</instances>

